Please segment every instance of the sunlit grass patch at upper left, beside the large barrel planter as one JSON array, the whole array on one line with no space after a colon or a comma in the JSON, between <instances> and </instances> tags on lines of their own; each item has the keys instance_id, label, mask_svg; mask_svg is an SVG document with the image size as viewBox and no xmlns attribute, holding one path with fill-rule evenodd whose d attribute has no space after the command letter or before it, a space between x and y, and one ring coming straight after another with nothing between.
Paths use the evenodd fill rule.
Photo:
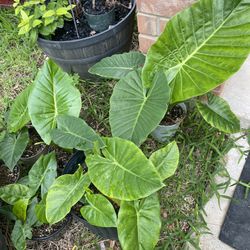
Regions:
<instances>
[{"instance_id":1,"label":"sunlit grass patch at upper left, beside the large barrel planter","mask_svg":"<svg viewBox=\"0 0 250 250\"><path fill-rule=\"evenodd\" d=\"M18 36L12 10L0 10L0 112L6 111L15 96L32 82L44 55Z\"/></svg>"}]
</instances>

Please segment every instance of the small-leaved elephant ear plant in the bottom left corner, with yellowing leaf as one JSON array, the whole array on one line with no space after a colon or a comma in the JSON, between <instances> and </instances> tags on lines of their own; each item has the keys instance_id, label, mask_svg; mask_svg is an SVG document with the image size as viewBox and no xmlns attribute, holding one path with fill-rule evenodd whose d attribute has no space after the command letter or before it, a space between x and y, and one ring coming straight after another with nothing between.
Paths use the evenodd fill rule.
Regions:
<instances>
[{"instance_id":1,"label":"small-leaved elephant ear plant in the bottom left corner, with yellowing leaf","mask_svg":"<svg viewBox=\"0 0 250 250\"><path fill-rule=\"evenodd\" d=\"M15 221L11 240L18 250L26 249L26 239L32 238L32 228L48 223L44 219L44 199L57 176L55 153L42 155L30 169L28 176L19 183L0 188L0 199L10 205L4 206L0 213L11 215Z\"/></svg>"}]
</instances>

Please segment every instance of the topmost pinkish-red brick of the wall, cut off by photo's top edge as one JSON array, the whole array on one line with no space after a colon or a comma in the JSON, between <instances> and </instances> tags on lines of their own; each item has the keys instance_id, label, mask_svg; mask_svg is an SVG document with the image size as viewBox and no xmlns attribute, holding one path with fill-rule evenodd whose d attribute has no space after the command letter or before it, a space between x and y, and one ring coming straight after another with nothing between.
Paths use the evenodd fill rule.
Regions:
<instances>
[{"instance_id":1,"label":"topmost pinkish-red brick of the wall, cut off by photo's top edge","mask_svg":"<svg viewBox=\"0 0 250 250\"><path fill-rule=\"evenodd\" d=\"M137 8L140 12L172 17L194 2L195 0L137 0Z\"/></svg>"}]
</instances>

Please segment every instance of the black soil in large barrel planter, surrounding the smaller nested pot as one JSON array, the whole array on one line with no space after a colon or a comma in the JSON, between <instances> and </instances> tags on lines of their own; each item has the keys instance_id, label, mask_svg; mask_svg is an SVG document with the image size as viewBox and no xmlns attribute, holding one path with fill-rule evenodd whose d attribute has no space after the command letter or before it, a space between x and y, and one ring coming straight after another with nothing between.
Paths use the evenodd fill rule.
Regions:
<instances>
[{"instance_id":1,"label":"black soil in large barrel planter, surrounding the smaller nested pot","mask_svg":"<svg viewBox=\"0 0 250 250\"><path fill-rule=\"evenodd\" d=\"M89 2L89 1L87 1L87 2ZM98 2L98 0L96 2ZM129 13L130 9L132 8L131 0L119 0L119 1L115 1L115 2L116 2L115 21L112 25L117 24L124 17L126 17ZM82 3L82 5L83 5L83 3ZM82 11L81 11L81 13L78 13L76 15L76 23L77 23L77 29L78 29L78 33L79 33L80 38L90 37L90 36L93 36L93 35L98 33L89 27L89 25L86 21L86 18L85 18ZM57 29L55 32L55 35L52 36L51 39L53 41L68 41L68 40L78 39L76 31L75 31L75 26L74 26L73 20L65 22L64 27L61 29L60 28Z\"/></svg>"}]
</instances>

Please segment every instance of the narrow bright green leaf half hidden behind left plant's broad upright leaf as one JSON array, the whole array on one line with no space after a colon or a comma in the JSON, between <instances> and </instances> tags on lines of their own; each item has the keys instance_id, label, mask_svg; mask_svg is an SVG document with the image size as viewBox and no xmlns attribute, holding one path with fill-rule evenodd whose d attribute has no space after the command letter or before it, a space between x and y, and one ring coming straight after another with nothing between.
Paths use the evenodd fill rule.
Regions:
<instances>
[{"instance_id":1,"label":"narrow bright green leaf half hidden behind left plant's broad upright leaf","mask_svg":"<svg viewBox=\"0 0 250 250\"><path fill-rule=\"evenodd\" d=\"M30 85L24 89L12 104L7 122L10 132L17 132L30 121L28 99L32 88L33 85Z\"/></svg>"}]
</instances>

